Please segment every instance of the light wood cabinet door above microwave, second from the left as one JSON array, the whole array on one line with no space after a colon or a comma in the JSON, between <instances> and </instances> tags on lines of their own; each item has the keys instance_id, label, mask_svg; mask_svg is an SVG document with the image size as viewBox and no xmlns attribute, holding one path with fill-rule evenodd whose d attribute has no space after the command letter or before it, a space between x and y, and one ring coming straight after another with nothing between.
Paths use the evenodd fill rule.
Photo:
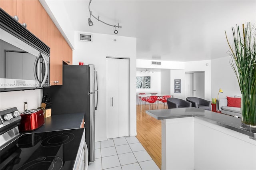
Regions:
<instances>
[{"instance_id":1,"label":"light wood cabinet door above microwave, second from the left","mask_svg":"<svg viewBox=\"0 0 256 170\"><path fill-rule=\"evenodd\" d=\"M26 23L27 29L43 40L43 10L38 0L18 0L17 16L21 24Z\"/></svg>"}]
</instances>

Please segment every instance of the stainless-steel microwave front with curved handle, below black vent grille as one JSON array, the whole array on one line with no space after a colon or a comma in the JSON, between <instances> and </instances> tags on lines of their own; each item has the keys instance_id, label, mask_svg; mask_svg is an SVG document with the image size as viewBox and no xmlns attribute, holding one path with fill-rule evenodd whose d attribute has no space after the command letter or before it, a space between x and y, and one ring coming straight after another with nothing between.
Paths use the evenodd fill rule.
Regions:
<instances>
[{"instance_id":1,"label":"stainless-steel microwave front with curved handle, below black vent grille","mask_svg":"<svg viewBox=\"0 0 256 170\"><path fill-rule=\"evenodd\" d=\"M0 29L0 90L42 88L48 83L49 57Z\"/></svg>"}]
</instances>

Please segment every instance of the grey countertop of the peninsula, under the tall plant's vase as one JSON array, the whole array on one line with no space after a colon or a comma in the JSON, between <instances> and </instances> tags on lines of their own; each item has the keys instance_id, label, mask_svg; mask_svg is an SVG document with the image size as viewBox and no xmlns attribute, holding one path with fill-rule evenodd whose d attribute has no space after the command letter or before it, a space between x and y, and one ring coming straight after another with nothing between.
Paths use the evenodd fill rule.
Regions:
<instances>
[{"instance_id":1,"label":"grey countertop of the peninsula, under the tall plant's vase","mask_svg":"<svg viewBox=\"0 0 256 170\"><path fill-rule=\"evenodd\" d=\"M241 118L236 118L212 111L206 111L195 107L148 110L146 113L158 120L196 117L198 119L202 119L204 121L235 130L242 134L246 134L254 139L256 138L256 129L250 127L242 127Z\"/></svg>"}]
</instances>

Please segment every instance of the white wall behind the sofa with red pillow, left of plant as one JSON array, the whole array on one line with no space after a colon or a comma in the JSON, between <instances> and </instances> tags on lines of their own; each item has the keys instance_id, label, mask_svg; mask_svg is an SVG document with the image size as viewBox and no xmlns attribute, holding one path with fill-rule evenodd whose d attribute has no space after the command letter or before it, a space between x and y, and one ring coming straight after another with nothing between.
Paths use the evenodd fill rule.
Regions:
<instances>
[{"instance_id":1,"label":"white wall behind the sofa with red pillow, left of plant","mask_svg":"<svg viewBox=\"0 0 256 170\"><path fill-rule=\"evenodd\" d=\"M220 88L223 90L223 93L219 95L220 98L234 97L234 95L241 96L238 80L230 65L230 59L230 56L226 56L211 61L212 98L217 99Z\"/></svg>"}]
</instances>

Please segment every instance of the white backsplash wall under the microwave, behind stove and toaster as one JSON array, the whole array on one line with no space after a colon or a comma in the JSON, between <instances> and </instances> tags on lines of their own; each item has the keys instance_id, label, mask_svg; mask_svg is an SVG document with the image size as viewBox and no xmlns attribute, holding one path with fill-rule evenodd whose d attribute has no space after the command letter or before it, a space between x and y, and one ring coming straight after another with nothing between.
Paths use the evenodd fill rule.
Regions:
<instances>
[{"instance_id":1,"label":"white backsplash wall under the microwave, behind stove and toaster","mask_svg":"<svg viewBox=\"0 0 256 170\"><path fill-rule=\"evenodd\" d=\"M37 109L42 102L42 89L8 91L0 93L0 110L17 107L20 113L24 112L24 102L28 102L28 110Z\"/></svg>"}]
</instances>

